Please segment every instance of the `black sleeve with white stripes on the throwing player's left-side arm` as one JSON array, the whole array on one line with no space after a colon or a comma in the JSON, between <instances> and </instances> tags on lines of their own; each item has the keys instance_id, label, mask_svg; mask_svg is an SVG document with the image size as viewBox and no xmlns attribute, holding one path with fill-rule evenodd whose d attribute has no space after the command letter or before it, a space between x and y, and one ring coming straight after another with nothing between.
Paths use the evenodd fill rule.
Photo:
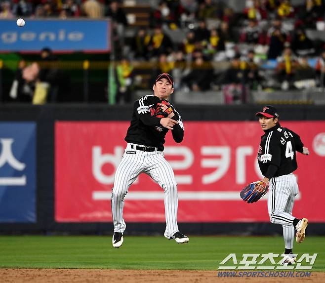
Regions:
<instances>
[{"instance_id":1,"label":"black sleeve with white stripes on the throwing player's left-side arm","mask_svg":"<svg viewBox=\"0 0 325 283\"><path fill-rule=\"evenodd\" d=\"M162 118L151 116L150 113L150 106L156 107L158 102L159 98L156 96L150 96L150 98L146 98L146 96L141 97L134 102L135 115L147 126L159 126Z\"/></svg>"}]
</instances>

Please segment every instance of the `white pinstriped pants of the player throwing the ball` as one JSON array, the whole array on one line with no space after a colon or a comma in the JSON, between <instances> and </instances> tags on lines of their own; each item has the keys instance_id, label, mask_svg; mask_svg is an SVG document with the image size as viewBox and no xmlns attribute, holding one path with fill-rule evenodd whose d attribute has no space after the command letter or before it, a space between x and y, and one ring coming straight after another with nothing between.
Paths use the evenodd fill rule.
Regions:
<instances>
[{"instance_id":1,"label":"white pinstriped pants of the player throwing the ball","mask_svg":"<svg viewBox=\"0 0 325 283\"><path fill-rule=\"evenodd\" d=\"M133 144L134 145L134 144ZM134 145L135 146L135 145ZM135 152L129 154L126 152ZM146 173L164 190L164 206L166 218L165 237L178 232L177 226L177 184L170 164L160 151L144 152L131 148L128 143L122 161L115 173L114 187L112 188L111 207L114 232L124 232L126 225L123 219L124 198L128 188L138 175Z\"/></svg>"}]
</instances>

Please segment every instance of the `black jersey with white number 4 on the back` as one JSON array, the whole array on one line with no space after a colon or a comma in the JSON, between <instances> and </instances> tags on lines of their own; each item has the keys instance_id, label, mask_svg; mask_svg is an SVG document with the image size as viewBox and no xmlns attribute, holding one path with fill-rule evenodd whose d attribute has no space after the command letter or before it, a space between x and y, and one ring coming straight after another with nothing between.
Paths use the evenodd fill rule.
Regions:
<instances>
[{"instance_id":1,"label":"black jersey with white number 4 on the back","mask_svg":"<svg viewBox=\"0 0 325 283\"><path fill-rule=\"evenodd\" d=\"M257 154L262 174L265 176L270 164L278 167L274 177L292 173L298 167L296 151L302 153L303 143L290 129L277 125L265 131Z\"/></svg>"}]
</instances>

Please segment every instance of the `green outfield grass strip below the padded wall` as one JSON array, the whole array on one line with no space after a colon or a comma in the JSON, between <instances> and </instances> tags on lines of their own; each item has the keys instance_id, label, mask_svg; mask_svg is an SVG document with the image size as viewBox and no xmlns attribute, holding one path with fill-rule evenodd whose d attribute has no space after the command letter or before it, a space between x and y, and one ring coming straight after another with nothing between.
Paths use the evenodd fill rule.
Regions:
<instances>
[{"instance_id":1,"label":"green outfield grass strip below the padded wall","mask_svg":"<svg viewBox=\"0 0 325 283\"><path fill-rule=\"evenodd\" d=\"M243 253L282 253L283 245L282 237L190 237L188 244L176 244L125 236L117 249L108 236L0 236L0 268L217 270L229 253L239 262ZM294 243L294 252L318 253L312 271L325 271L325 237Z\"/></svg>"}]
</instances>

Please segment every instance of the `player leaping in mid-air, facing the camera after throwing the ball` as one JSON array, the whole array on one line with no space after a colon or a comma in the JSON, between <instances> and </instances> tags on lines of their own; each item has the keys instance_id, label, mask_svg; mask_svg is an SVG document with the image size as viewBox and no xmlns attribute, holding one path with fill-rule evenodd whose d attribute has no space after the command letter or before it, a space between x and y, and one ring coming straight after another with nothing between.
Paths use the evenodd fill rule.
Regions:
<instances>
[{"instance_id":1,"label":"player leaping in mid-air, facing the camera after throwing the ball","mask_svg":"<svg viewBox=\"0 0 325 283\"><path fill-rule=\"evenodd\" d=\"M153 85L154 94L136 100L131 124L127 130L127 142L112 189L112 216L114 234L112 243L119 248L123 243L125 222L124 197L128 188L141 173L146 173L164 190L166 229L164 237L176 243L187 243L189 238L179 232L177 226L177 187L174 172L163 156L163 144L168 130L175 142L184 137L181 116L167 101L173 93L173 79L167 73L160 74Z\"/></svg>"}]
</instances>

